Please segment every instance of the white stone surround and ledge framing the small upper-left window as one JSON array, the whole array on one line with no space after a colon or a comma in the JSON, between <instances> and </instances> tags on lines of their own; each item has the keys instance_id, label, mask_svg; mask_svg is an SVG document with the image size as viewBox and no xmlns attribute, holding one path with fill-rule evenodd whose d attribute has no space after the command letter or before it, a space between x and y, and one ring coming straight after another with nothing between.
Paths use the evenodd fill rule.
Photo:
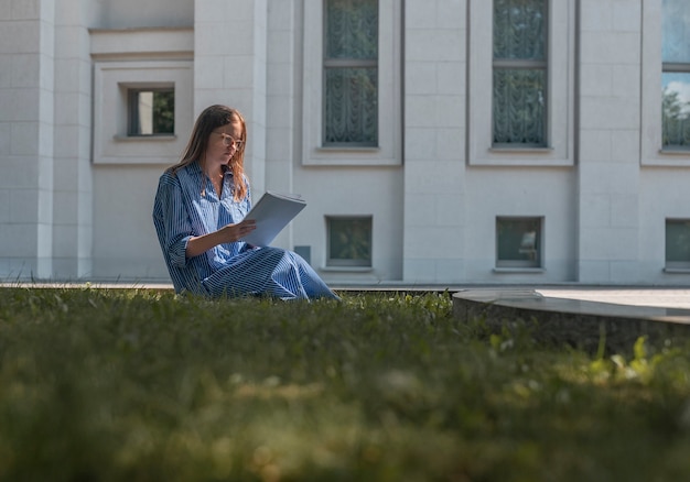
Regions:
<instances>
[{"instance_id":1,"label":"white stone surround and ledge framing the small upper-left window","mask_svg":"<svg viewBox=\"0 0 690 482\"><path fill-rule=\"evenodd\" d=\"M94 164L174 164L194 122L194 29L91 29ZM173 87L173 136L127 135L128 88Z\"/></svg>"}]
</instances>

